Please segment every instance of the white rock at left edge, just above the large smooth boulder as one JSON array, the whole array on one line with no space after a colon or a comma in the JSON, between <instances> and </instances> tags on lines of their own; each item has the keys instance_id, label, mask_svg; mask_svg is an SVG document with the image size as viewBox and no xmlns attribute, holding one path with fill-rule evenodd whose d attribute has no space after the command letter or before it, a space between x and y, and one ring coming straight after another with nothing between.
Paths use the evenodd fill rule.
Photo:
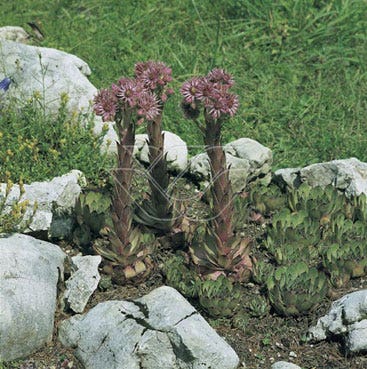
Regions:
<instances>
[{"instance_id":1,"label":"white rock at left edge, just above the large smooth boulder","mask_svg":"<svg viewBox=\"0 0 367 369\"><path fill-rule=\"evenodd\" d=\"M24 221L31 219L27 233L46 233L48 238L63 239L69 237L74 228L74 208L86 180L82 172L72 170L51 181L33 182L24 185L24 194L20 197L19 185L14 185L9 193L4 211L20 200L28 201ZM0 199L5 196L6 184L0 183ZM34 204L37 210L33 215Z\"/></svg>"}]
</instances>

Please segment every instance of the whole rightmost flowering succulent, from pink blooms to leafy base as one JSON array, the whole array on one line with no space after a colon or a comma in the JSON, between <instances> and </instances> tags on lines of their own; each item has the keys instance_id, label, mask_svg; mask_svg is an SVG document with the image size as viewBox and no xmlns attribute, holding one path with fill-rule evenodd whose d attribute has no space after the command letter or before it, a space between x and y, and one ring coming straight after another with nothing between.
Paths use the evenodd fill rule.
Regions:
<instances>
[{"instance_id":1,"label":"whole rightmost flowering succulent, from pink blooms to leafy base","mask_svg":"<svg viewBox=\"0 0 367 369\"><path fill-rule=\"evenodd\" d=\"M213 69L186 81L180 90L184 114L202 133L211 168L212 220L204 237L194 237L190 245L193 263L204 279L224 275L246 280L252 269L249 242L233 231L233 193L221 144L222 126L238 109L238 97L230 92L233 84L229 73Z\"/></svg>"}]
</instances>

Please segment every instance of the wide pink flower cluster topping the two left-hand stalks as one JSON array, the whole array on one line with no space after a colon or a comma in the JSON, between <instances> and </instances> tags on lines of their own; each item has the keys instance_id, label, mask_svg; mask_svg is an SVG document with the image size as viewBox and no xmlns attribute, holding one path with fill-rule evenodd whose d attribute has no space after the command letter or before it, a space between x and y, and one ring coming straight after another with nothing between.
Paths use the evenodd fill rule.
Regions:
<instances>
[{"instance_id":1,"label":"wide pink flower cluster topping the two left-hand stalks","mask_svg":"<svg viewBox=\"0 0 367 369\"><path fill-rule=\"evenodd\" d=\"M121 78L110 89L101 89L94 98L94 112L103 121L116 120L117 114L135 111L143 120L153 121L162 103L172 94L166 85L172 81L172 70L162 62L148 61L135 65L135 78Z\"/></svg>"}]
</instances>

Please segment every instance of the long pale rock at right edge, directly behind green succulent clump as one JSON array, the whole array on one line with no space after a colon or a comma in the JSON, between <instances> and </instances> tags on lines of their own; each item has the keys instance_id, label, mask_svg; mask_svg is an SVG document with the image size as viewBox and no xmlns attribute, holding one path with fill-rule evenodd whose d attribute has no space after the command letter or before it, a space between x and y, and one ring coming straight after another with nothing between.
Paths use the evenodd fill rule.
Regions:
<instances>
[{"instance_id":1,"label":"long pale rock at right edge, directly behind green succulent clump","mask_svg":"<svg viewBox=\"0 0 367 369\"><path fill-rule=\"evenodd\" d=\"M274 181L282 187L297 188L333 185L347 196L367 194L367 163L356 158L312 164L304 168L279 169Z\"/></svg>"}]
</instances>

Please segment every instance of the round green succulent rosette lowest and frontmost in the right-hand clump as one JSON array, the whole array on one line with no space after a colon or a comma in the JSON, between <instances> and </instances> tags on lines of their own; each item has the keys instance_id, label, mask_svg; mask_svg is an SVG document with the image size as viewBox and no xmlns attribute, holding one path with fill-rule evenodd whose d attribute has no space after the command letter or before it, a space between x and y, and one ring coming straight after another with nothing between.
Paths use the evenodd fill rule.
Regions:
<instances>
[{"instance_id":1,"label":"round green succulent rosette lowest and frontmost in the right-hand clump","mask_svg":"<svg viewBox=\"0 0 367 369\"><path fill-rule=\"evenodd\" d=\"M281 266L267 280L267 292L277 313L306 314L317 306L328 290L326 275L305 262Z\"/></svg>"}]
</instances>

